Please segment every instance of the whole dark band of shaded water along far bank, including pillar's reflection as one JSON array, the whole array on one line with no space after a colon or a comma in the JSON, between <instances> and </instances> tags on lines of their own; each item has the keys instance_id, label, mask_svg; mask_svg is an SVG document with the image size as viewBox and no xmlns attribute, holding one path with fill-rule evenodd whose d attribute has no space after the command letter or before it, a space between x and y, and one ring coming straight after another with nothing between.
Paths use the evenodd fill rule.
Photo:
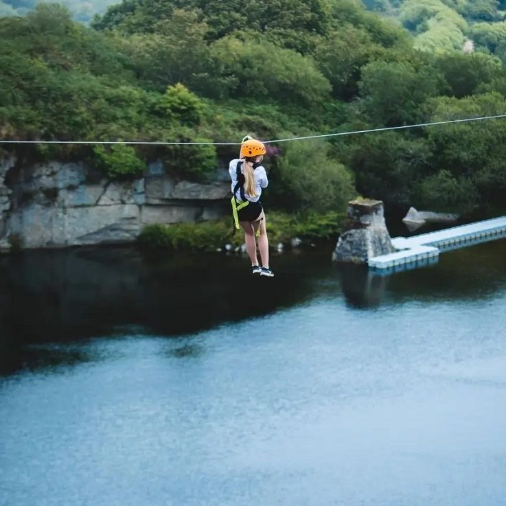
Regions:
<instances>
[{"instance_id":1,"label":"whole dark band of shaded water along far bank, including pillar's reflection","mask_svg":"<svg viewBox=\"0 0 506 506\"><path fill-rule=\"evenodd\" d=\"M357 309L409 299L490 297L506 284L506 240L444 253L433 266L389 276L336 264L328 249L285 253L271 263L276 276L264 279L253 277L240 255L102 247L2 256L0 373L88 360L82 349L55 344L47 350L37 343L131 333L136 327L176 336L315 297L344 296Z\"/></svg>"}]
</instances>

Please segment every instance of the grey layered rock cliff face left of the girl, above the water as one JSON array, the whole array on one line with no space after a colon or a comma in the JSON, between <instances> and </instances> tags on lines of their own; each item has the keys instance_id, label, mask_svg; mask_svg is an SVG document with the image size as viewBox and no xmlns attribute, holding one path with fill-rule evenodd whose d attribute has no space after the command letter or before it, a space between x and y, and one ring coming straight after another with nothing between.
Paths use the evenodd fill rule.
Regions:
<instances>
[{"instance_id":1,"label":"grey layered rock cliff face left of the girl, above the water","mask_svg":"<svg viewBox=\"0 0 506 506\"><path fill-rule=\"evenodd\" d=\"M23 166L3 157L0 250L133 242L143 225L227 214L229 193L225 177L209 184L177 181L157 163L140 179L118 182L84 163Z\"/></svg>"}]
</instances>

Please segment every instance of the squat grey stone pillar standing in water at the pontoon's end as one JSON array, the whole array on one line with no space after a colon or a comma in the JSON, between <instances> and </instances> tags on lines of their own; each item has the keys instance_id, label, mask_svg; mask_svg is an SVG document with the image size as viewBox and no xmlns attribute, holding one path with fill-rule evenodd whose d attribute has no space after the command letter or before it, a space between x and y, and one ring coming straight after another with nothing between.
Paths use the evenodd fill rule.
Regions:
<instances>
[{"instance_id":1,"label":"squat grey stone pillar standing in water at the pontoon's end","mask_svg":"<svg viewBox=\"0 0 506 506\"><path fill-rule=\"evenodd\" d=\"M381 200L357 199L348 203L348 218L334 251L338 262L367 264L369 258L393 253Z\"/></svg>"}]
</instances>

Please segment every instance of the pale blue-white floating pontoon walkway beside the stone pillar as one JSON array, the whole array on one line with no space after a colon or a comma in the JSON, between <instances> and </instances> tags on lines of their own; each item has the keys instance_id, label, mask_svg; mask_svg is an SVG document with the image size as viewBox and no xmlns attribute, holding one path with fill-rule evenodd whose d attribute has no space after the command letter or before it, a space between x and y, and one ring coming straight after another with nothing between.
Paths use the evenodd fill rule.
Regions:
<instances>
[{"instance_id":1,"label":"pale blue-white floating pontoon walkway beside the stone pillar","mask_svg":"<svg viewBox=\"0 0 506 506\"><path fill-rule=\"evenodd\" d=\"M443 251L501 238L506 238L506 216L422 233L411 238L392 239L393 247L397 251L370 258L368 264L373 269L401 271L433 264Z\"/></svg>"}]
</instances>

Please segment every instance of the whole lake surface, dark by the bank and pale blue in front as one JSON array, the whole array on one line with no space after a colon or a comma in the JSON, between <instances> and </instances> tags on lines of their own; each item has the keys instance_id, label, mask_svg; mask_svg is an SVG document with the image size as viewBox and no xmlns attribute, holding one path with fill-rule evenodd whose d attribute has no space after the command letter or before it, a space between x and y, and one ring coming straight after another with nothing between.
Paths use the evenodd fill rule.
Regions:
<instances>
[{"instance_id":1,"label":"whole lake surface, dark by the bank and pale blue in front","mask_svg":"<svg viewBox=\"0 0 506 506\"><path fill-rule=\"evenodd\" d=\"M506 240L0 257L2 506L503 506Z\"/></svg>"}]
</instances>

